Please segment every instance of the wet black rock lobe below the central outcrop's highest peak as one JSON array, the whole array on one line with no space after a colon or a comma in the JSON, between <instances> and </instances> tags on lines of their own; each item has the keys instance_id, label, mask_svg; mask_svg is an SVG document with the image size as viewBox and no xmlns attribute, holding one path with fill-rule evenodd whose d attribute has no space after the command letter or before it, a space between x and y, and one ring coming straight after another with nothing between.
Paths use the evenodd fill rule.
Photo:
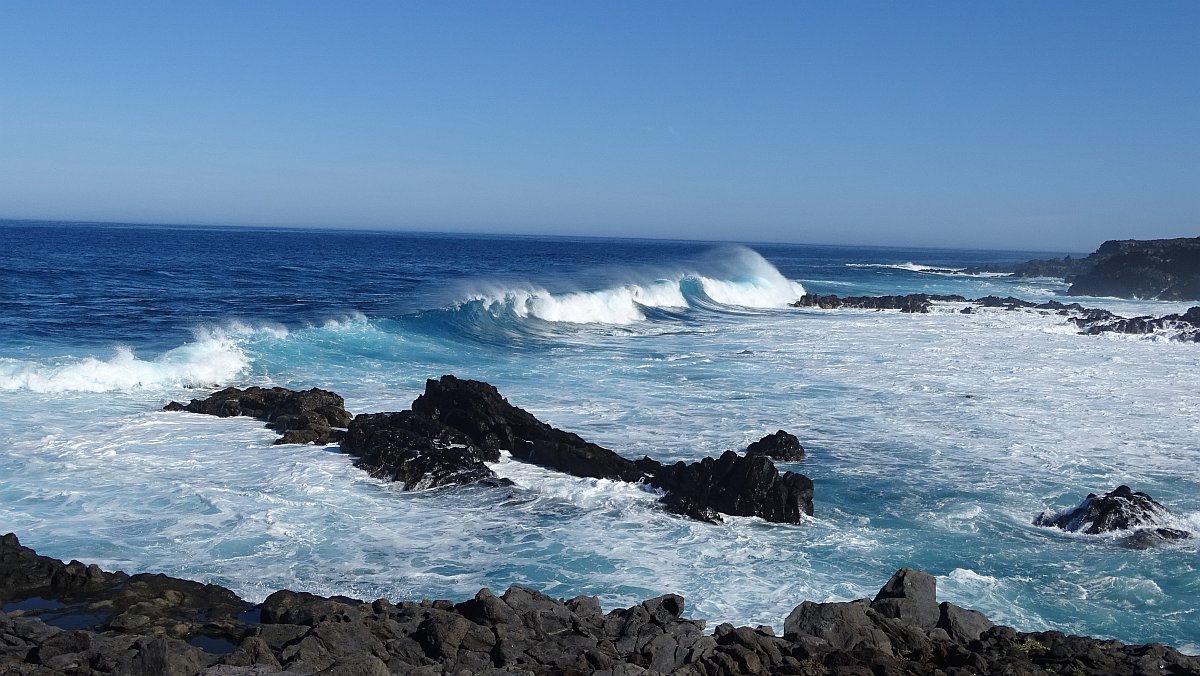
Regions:
<instances>
[{"instance_id":1,"label":"wet black rock lobe below the central outcrop's highest peak","mask_svg":"<svg viewBox=\"0 0 1200 676\"><path fill-rule=\"evenodd\" d=\"M498 450L480 449L463 432L412 411L358 415L342 439L342 453L354 455L355 465L372 477L400 481L406 490L505 483L484 465L499 461Z\"/></svg>"}]
</instances>

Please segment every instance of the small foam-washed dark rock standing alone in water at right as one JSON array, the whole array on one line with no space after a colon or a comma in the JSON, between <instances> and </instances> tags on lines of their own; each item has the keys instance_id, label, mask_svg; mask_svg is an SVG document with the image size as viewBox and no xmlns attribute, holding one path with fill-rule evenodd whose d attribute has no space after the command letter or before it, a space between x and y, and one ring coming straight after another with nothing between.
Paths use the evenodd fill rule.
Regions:
<instances>
[{"instance_id":1,"label":"small foam-washed dark rock standing alone in water at right","mask_svg":"<svg viewBox=\"0 0 1200 676\"><path fill-rule=\"evenodd\" d=\"M1127 537L1126 545L1145 549L1160 542L1190 537L1186 531L1163 527L1169 518L1170 512L1154 498L1122 485L1102 496L1088 493L1072 509L1043 512L1033 525L1090 536L1136 531Z\"/></svg>"}]
</instances>

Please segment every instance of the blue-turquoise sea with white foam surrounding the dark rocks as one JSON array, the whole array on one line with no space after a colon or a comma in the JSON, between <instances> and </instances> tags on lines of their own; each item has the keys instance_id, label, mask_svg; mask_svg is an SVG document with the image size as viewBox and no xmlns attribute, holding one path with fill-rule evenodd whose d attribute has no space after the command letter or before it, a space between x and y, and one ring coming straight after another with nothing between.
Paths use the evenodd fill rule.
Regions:
<instances>
[{"instance_id":1,"label":"blue-turquoise sea with white foam surrounding the dark rocks","mask_svg":"<svg viewBox=\"0 0 1200 676\"><path fill-rule=\"evenodd\" d=\"M1200 533L1200 343L954 303L788 306L809 292L1187 309L958 271L1062 253L0 222L0 532L254 602L679 593L709 626L776 630L803 600L874 596L913 567L1020 630L1198 653L1200 538L1133 550L1033 520L1128 484ZM787 430L808 456L779 466L814 480L815 514L702 524L647 486L511 459L493 467L511 487L406 492L336 445L162 411L228 385L403 411L444 373L631 459Z\"/></svg>"}]
</instances>

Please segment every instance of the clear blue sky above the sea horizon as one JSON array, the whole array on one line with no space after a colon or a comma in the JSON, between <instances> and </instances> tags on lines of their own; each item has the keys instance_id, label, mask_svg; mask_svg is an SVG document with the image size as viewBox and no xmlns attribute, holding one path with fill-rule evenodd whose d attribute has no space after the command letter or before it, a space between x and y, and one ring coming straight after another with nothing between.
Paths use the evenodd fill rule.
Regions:
<instances>
[{"instance_id":1,"label":"clear blue sky above the sea horizon","mask_svg":"<svg viewBox=\"0 0 1200 676\"><path fill-rule=\"evenodd\" d=\"M1200 235L1200 2L0 0L0 219Z\"/></svg>"}]
</instances>

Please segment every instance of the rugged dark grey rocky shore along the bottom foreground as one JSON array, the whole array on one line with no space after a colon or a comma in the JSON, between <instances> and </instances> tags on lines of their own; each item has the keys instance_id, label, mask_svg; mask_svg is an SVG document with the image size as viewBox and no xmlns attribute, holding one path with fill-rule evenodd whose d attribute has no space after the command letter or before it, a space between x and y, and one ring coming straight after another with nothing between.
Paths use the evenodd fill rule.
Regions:
<instances>
[{"instance_id":1,"label":"rugged dark grey rocky shore along the bottom foreground","mask_svg":"<svg viewBox=\"0 0 1200 676\"><path fill-rule=\"evenodd\" d=\"M874 599L804 602L770 627L688 620L666 594L605 612L510 587L500 596L360 602L107 573L0 538L0 674L128 676L1200 674L1174 648L1022 633L938 603L901 569Z\"/></svg>"}]
</instances>

